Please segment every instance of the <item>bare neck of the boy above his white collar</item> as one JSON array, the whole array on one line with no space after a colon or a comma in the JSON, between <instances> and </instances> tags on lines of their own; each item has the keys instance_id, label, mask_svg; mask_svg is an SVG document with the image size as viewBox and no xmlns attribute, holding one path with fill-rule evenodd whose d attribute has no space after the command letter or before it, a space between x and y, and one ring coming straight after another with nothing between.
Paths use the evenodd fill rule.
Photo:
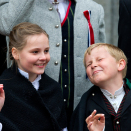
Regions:
<instances>
[{"instance_id":1,"label":"bare neck of the boy above his white collar","mask_svg":"<svg viewBox=\"0 0 131 131\"><path fill-rule=\"evenodd\" d=\"M112 95L115 94L115 92L120 89L123 85L123 79L118 80L118 81L110 81L110 82L103 82L99 87L107 90L108 92L110 92Z\"/></svg>"}]
</instances>

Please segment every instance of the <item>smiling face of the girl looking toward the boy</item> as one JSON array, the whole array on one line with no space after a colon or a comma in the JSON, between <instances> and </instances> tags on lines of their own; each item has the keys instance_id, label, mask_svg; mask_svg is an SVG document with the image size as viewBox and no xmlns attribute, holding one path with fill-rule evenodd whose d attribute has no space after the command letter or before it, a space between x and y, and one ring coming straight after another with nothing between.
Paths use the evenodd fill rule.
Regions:
<instances>
[{"instance_id":1,"label":"smiling face of the girl looking toward the boy","mask_svg":"<svg viewBox=\"0 0 131 131\"><path fill-rule=\"evenodd\" d=\"M28 36L25 47L17 50L16 58L18 67L29 74L31 82L34 81L37 75L44 73L50 61L48 37L45 34Z\"/></svg>"}]
</instances>

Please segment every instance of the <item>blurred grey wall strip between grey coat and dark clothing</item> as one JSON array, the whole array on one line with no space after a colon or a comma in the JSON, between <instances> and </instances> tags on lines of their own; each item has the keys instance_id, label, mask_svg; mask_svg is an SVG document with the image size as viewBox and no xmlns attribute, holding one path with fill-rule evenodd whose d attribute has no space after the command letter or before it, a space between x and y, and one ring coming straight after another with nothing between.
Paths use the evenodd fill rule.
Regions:
<instances>
[{"instance_id":1,"label":"blurred grey wall strip between grey coat and dark clothing","mask_svg":"<svg viewBox=\"0 0 131 131\"><path fill-rule=\"evenodd\" d=\"M119 0L94 0L94 1L101 4L105 11L106 42L117 46Z\"/></svg>"}]
</instances>

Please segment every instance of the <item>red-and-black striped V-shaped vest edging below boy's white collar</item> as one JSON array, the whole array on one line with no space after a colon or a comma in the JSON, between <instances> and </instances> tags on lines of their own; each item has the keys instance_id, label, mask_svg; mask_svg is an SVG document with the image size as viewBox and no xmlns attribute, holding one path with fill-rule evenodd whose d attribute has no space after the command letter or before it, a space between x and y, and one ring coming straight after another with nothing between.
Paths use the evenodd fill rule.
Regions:
<instances>
[{"instance_id":1,"label":"red-and-black striped V-shaped vest edging below boy's white collar","mask_svg":"<svg viewBox=\"0 0 131 131\"><path fill-rule=\"evenodd\" d=\"M114 131L121 131L120 129L120 117L121 117L121 112L122 112L122 108L123 108L123 105L124 105L124 102L126 100L126 96L129 92L129 88L127 88L125 82L124 82L124 90L125 90L125 95L123 97L123 100L120 104L120 107L118 109L118 112L116 113L114 108L112 107L112 105L110 104L110 102L108 101L108 99L103 95L103 98L104 98L104 101L105 101L105 104L107 106L107 109L109 111L109 113L112 115L112 122L113 122L113 126L114 126ZM103 94L103 93L102 93Z\"/></svg>"}]
</instances>

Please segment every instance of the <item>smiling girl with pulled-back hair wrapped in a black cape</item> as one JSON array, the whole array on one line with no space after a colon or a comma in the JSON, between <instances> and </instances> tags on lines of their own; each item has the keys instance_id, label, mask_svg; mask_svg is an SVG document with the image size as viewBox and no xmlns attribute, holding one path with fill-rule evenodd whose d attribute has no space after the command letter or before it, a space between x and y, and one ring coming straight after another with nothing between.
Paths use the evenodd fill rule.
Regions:
<instances>
[{"instance_id":1,"label":"smiling girl with pulled-back hair wrapped in a black cape","mask_svg":"<svg viewBox=\"0 0 131 131\"><path fill-rule=\"evenodd\" d=\"M62 92L44 73L50 61L48 34L36 24L21 23L9 35L13 66L4 71L3 131L60 131L66 127Z\"/></svg>"}]
</instances>

